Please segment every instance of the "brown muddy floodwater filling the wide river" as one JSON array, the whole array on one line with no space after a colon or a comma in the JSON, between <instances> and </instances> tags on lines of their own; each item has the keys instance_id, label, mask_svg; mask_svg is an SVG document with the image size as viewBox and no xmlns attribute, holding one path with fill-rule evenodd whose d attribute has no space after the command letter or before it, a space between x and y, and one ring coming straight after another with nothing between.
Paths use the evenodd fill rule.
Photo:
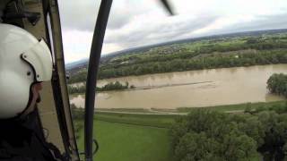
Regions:
<instances>
[{"instance_id":1,"label":"brown muddy floodwater filling the wide river","mask_svg":"<svg viewBox=\"0 0 287 161\"><path fill-rule=\"evenodd\" d=\"M97 94L97 108L177 108L269 102L283 97L268 93L266 81L275 72L287 73L287 64L168 72L100 80L98 86L128 81L137 89ZM84 106L83 95L71 103Z\"/></svg>"}]
</instances>

